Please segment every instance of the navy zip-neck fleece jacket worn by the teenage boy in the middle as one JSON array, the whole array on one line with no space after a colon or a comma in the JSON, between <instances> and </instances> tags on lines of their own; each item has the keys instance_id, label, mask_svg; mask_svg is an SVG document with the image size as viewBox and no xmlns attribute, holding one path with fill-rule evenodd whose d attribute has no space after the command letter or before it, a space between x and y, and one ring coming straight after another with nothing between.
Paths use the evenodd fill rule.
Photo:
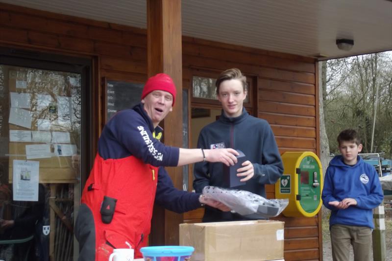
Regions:
<instances>
[{"instance_id":1,"label":"navy zip-neck fleece jacket worn by the teenage boy in the middle","mask_svg":"<svg viewBox=\"0 0 392 261\"><path fill-rule=\"evenodd\" d=\"M254 176L236 189L266 197L264 184L274 184L283 174L283 163L270 125L264 119L249 115L245 108L239 117L228 118L223 110L219 120L205 126L197 141L197 148L233 148L241 150L254 167ZM198 162L194 165L196 192L205 186L223 186L222 163ZM238 214L222 213L206 208L203 221L243 219Z\"/></svg>"}]
</instances>

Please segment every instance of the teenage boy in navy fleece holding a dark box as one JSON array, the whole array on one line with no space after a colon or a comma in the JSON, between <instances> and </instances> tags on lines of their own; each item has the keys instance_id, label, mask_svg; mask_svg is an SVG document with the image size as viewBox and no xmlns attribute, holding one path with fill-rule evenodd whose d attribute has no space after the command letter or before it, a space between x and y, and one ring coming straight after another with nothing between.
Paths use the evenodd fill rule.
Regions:
<instances>
[{"instance_id":1,"label":"teenage boy in navy fleece holding a dark box","mask_svg":"<svg viewBox=\"0 0 392 261\"><path fill-rule=\"evenodd\" d=\"M236 189L266 197L265 184L274 184L283 174L282 159L270 124L249 115L244 108L246 77L238 68L221 72L215 85L222 106L221 116L200 131L197 148L233 148L244 152L247 160L237 170L244 185ZM206 186L223 186L221 163L198 162L194 166L193 187L196 192L202 192ZM203 222L251 218L206 207ZM254 219L259 218L254 216Z\"/></svg>"}]
</instances>

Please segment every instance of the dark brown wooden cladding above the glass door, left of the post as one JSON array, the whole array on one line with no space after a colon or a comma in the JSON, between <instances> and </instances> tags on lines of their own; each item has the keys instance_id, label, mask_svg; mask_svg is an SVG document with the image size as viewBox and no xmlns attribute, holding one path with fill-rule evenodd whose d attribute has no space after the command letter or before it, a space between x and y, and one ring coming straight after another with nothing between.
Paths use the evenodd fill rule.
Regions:
<instances>
[{"instance_id":1,"label":"dark brown wooden cladding above the glass door, left of the post","mask_svg":"<svg viewBox=\"0 0 392 261\"><path fill-rule=\"evenodd\" d=\"M0 6L1 43L96 57L102 77L146 81L146 30L5 3Z\"/></svg>"}]
</instances>

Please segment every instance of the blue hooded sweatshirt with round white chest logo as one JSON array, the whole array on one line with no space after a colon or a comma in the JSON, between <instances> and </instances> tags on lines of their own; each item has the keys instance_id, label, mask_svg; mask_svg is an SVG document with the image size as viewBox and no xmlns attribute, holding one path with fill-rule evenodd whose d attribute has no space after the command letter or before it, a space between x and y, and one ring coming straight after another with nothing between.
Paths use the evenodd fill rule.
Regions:
<instances>
[{"instance_id":1,"label":"blue hooded sweatshirt with round white chest logo","mask_svg":"<svg viewBox=\"0 0 392 261\"><path fill-rule=\"evenodd\" d=\"M328 202L354 198L357 205L338 209ZM353 166L343 162L343 156L335 156L327 168L322 190L322 203L330 209L329 226L334 224L374 228L372 209L381 204L383 191L373 166L357 156Z\"/></svg>"}]
</instances>

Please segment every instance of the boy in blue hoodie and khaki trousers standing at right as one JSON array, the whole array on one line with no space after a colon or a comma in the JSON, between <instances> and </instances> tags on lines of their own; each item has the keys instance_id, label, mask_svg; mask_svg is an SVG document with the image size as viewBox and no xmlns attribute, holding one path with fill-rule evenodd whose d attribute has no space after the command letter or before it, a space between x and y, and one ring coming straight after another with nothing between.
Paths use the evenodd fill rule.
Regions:
<instances>
[{"instance_id":1,"label":"boy in blue hoodie and khaki trousers standing at right","mask_svg":"<svg viewBox=\"0 0 392 261\"><path fill-rule=\"evenodd\" d=\"M342 131L338 144L342 155L329 163L321 196L324 206L331 210L332 258L349 260L351 244L355 261L370 261L372 209L384 197L380 180L375 168L358 156L362 144L356 131Z\"/></svg>"}]
</instances>

